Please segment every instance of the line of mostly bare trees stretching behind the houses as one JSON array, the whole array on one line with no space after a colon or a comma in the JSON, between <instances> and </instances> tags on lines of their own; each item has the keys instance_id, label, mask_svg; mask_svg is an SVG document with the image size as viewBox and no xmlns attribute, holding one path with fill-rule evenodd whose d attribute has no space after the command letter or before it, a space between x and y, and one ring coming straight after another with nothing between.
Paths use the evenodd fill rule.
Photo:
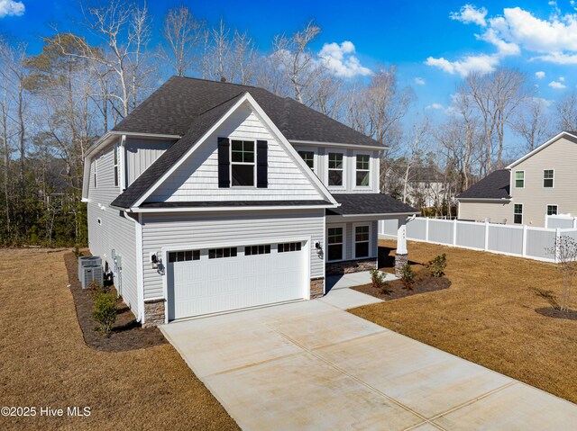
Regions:
<instances>
[{"instance_id":1,"label":"line of mostly bare trees stretching behind the houses","mask_svg":"<svg viewBox=\"0 0 577 431\"><path fill-rule=\"evenodd\" d=\"M428 210L436 215L451 215L456 193L506 165L508 130L523 142L518 151L577 130L577 94L549 106L526 74L508 68L463 79L446 121L433 124L426 111L408 118L416 96L398 84L396 67L336 75L311 49L321 33L314 21L264 50L248 31L186 6L153 17L145 4L80 3L78 17L74 32L48 30L36 55L0 39L0 245L86 244L87 148L172 75L261 86L343 121L388 146L382 192L423 207L411 184L433 173L424 181L441 184Z\"/></svg>"}]
</instances>

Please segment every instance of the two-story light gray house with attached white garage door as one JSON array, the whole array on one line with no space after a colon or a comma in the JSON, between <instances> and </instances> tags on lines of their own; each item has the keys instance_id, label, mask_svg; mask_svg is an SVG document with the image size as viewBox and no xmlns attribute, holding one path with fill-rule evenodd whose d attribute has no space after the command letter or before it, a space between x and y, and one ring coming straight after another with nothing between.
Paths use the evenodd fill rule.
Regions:
<instances>
[{"instance_id":1,"label":"two-story light gray house with attached white garage door","mask_svg":"<svg viewBox=\"0 0 577 431\"><path fill-rule=\"evenodd\" d=\"M87 153L90 251L145 324L322 296L376 267L378 220L417 212L379 193L382 149L290 98L174 76Z\"/></svg>"}]
</instances>

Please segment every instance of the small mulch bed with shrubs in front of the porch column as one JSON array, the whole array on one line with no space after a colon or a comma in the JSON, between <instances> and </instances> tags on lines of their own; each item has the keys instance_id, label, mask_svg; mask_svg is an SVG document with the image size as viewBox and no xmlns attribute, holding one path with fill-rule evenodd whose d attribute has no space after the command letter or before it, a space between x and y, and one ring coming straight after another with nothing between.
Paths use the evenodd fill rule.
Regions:
<instances>
[{"instance_id":1,"label":"small mulch bed with shrubs in front of the porch column","mask_svg":"<svg viewBox=\"0 0 577 431\"><path fill-rule=\"evenodd\" d=\"M413 266L413 269L415 267ZM447 289L451 282L443 277L434 277L427 268L421 268L415 272L415 282L412 283L410 289L401 280L394 280L387 282L386 293L380 289L372 287L371 284L364 284L362 286L352 287L355 291L366 293L368 295L379 298L380 300L397 300L398 298L405 298L406 296L417 295L419 293L436 292Z\"/></svg>"}]
</instances>

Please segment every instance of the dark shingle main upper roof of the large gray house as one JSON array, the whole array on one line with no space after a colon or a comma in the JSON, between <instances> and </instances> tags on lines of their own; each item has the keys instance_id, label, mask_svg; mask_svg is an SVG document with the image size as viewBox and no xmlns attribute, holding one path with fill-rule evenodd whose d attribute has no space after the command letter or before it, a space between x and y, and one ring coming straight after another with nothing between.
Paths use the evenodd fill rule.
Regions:
<instances>
[{"instance_id":1,"label":"dark shingle main upper roof of the large gray house","mask_svg":"<svg viewBox=\"0 0 577 431\"><path fill-rule=\"evenodd\" d=\"M289 97L282 98L249 85L172 76L113 130L179 135L181 138L118 196L112 205L119 208L132 207L245 93L252 95L289 140L382 147L376 140Z\"/></svg>"}]
</instances>

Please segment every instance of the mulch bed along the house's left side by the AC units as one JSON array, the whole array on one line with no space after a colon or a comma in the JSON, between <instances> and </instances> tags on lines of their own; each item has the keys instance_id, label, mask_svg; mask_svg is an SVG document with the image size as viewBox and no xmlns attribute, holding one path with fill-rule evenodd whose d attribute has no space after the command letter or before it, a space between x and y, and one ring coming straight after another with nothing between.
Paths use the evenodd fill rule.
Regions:
<instances>
[{"instance_id":1,"label":"mulch bed along the house's left side by the AC units","mask_svg":"<svg viewBox=\"0 0 577 431\"><path fill-rule=\"evenodd\" d=\"M110 336L105 337L95 330L97 324L95 319L92 319L94 301L90 291L80 286L77 257L73 253L67 253L64 255L64 264L69 275L70 292L74 298L78 323L87 346L105 352L125 352L167 343L159 328L142 328L123 301L119 303L118 319ZM111 287L111 292L115 292L114 286Z\"/></svg>"}]
</instances>

